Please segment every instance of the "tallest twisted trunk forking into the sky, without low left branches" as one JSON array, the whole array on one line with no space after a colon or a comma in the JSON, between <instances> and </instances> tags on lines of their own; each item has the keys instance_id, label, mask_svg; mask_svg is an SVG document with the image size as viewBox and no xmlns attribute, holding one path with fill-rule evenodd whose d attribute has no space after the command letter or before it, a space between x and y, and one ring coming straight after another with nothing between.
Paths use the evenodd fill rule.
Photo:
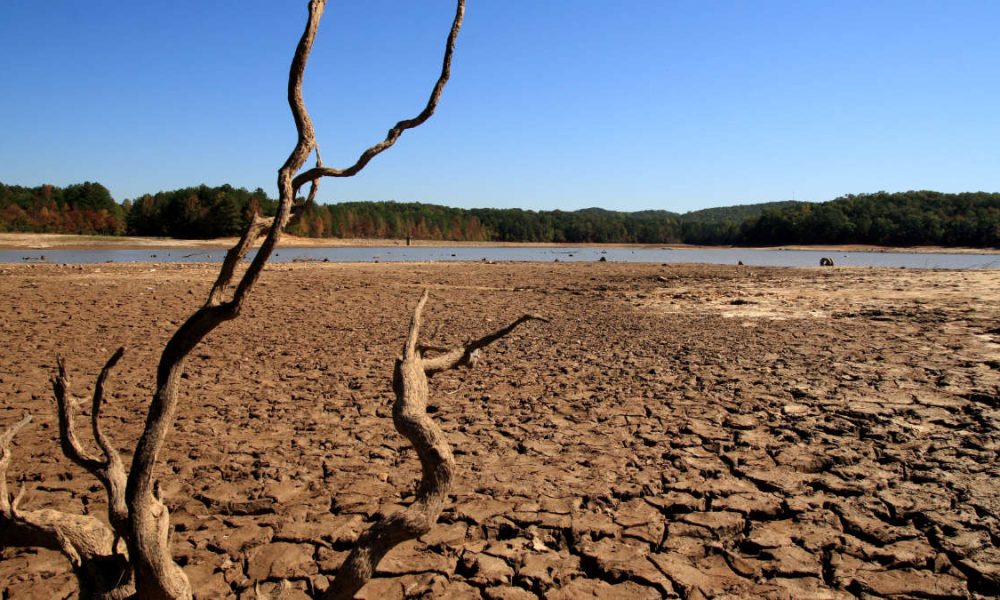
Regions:
<instances>
[{"instance_id":1,"label":"tallest twisted trunk forking into the sky, without low left branches","mask_svg":"<svg viewBox=\"0 0 1000 600\"><path fill-rule=\"evenodd\" d=\"M178 328L170 341L167 342L160 358L156 374L156 392L150 403L145 429L132 458L132 467L125 489L125 499L130 509L129 535L126 536L126 540L135 569L136 591L142 598L159 600L191 597L191 586L187 577L173 561L170 553L169 514L166 506L157 497L153 480L153 469L177 410L177 389L185 359L206 335L221 323L239 315L243 303L281 238L282 228L292 216L296 194L302 185L306 182L312 183L309 198L315 199L318 180L321 177L327 175L347 177L356 174L373 157L392 146L404 130L416 127L430 118L450 74L451 56L455 38L461 27L465 0L458 0L455 21L445 49L442 73L423 112L415 119L400 121L383 142L366 150L355 165L345 170L329 170L322 166L315 130L302 95L302 78L306 62L312 50L316 30L319 27L325 6L326 0L310 1L306 27L299 39L289 68L288 104L295 121L298 139L294 149L278 171L279 199L275 216L269 220L256 216L251 219L240 241L227 253L205 305ZM302 168L314 150L317 159L316 167L296 177L295 173ZM253 242L265 235L265 231L266 237L236 285L232 298L228 301L225 300L225 291L234 279L237 264L246 256Z\"/></svg>"}]
</instances>

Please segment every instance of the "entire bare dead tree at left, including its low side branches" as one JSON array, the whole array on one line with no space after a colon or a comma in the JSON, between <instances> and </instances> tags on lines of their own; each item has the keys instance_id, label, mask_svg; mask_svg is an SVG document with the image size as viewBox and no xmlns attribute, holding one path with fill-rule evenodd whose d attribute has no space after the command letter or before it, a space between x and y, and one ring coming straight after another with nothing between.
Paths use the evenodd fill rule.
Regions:
<instances>
[{"instance_id":1,"label":"entire bare dead tree at left, including its low side branches","mask_svg":"<svg viewBox=\"0 0 1000 600\"><path fill-rule=\"evenodd\" d=\"M372 158L395 144L404 131L421 125L434 114L441 93L448 82L455 40L465 13L465 0L457 1L454 21L445 44L441 73L424 109L416 117L396 123L382 141L362 152L354 164L344 168L323 166L313 124L302 96L302 78L325 5L325 0L310 1L305 31L295 49L289 70L288 103L298 139L288 159L278 171L279 202L276 214L272 218L254 216L251 219L240 240L226 254L205 304L195 311L167 342L157 366L156 388L149 405L145 428L136 444L132 463L127 472L121 457L104 435L99 423L105 380L124 349L119 349L108 360L95 387L91 424L94 439L101 449L101 457L87 452L76 438L73 402L68 391L66 370L62 360L58 361L58 373L53 379L53 389L59 406L62 448L71 460L84 467L104 484L108 494L110 527L91 517L50 510L20 510L19 502L22 495L12 498L7 493L6 469L10 462L11 440L17 431L28 423L30 416L26 416L21 422L6 430L0 438L3 453L0 456L0 475L3 475L0 477L2 481L0 519L4 525L0 535L4 536L5 540L21 542L16 545L47 546L61 550L69 557L80 577L81 597L130 597L133 596L134 584L134 596L142 599L191 598L191 585L187 576L170 552L170 515L161 501L159 488L154 479L160 452L163 450L177 411L178 390L185 361L205 336L222 323L239 316L264 265L281 238L282 229L293 212L305 204L296 202L298 191L305 184L310 184L309 200L312 200L315 198L321 178L351 177L360 172ZM300 173L314 151L316 166ZM257 255L237 278L236 272L240 263L254 242L261 237L264 240ZM421 306L422 304L423 301ZM419 323L419 310L414 321ZM415 336L416 328L411 328L414 344ZM412 361L415 352L413 349L404 354L410 356ZM440 364L443 368L446 362L444 358L448 356L451 355L443 355L429 361L428 364ZM463 360L469 362L471 355L469 359ZM404 364L407 364L405 360ZM423 379L422 386L421 389L426 395L426 379ZM448 456L450 457L450 452ZM425 460L423 455L421 460ZM425 469L429 468L429 464L425 463ZM424 489L423 486L421 489ZM437 490L439 487L434 489ZM437 512L440 511L439 504L437 506L433 513L435 519ZM430 512L426 514L431 515ZM429 522L427 526L429 527ZM369 564L372 565L371 569L374 569L374 564L377 564L381 554L373 551L369 555L371 557ZM91 571L95 570L99 571L99 576L91 575ZM342 569L342 574L344 581L350 580L351 585L357 587L366 580L364 576L352 576L349 568ZM106 576L110 576L110 579ZM104 583L105 579L107 584ZM355 581L360 583L353 583Z\"/></svg>"}]
</instances>

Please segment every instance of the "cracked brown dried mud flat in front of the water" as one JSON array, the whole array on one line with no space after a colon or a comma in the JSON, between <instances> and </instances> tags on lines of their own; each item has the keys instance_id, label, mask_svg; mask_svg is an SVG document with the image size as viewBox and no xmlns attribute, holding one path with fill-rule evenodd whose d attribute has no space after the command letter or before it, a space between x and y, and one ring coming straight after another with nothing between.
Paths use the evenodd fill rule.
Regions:
<instances>
[{"instance_id":1,"label":"cracked brown dried mud flat in front of the water","mask_svg":"<svg viewBox=\"0 0 1000 600\"><path fill-rule=\"evenodd\" d=\"M48 378L104 359L128 452L152 366L206 265L0 267L0 427L25 508L103 516L60 453ZM1000 590L1000 273L622 264L277 265L189 361L159 478L200 598L304 597L419 466L390 375L424 339L523 312L474 370L431 380L460 474L438 526L368 598L966 598ZM81 410L84 410L81 408ZM83 429L83 428L81 428ZM4 598L74 593L3 549Z\"/></svg>"}]
</instances>

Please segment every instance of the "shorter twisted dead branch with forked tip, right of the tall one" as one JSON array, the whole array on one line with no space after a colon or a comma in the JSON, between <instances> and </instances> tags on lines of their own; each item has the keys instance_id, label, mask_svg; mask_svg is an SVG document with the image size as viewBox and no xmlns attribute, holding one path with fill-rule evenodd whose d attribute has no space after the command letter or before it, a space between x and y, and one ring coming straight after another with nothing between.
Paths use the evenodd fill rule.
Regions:
<instances>
[{"instance_id":1,"label":"shorter twisted dead branch with forked tip, right of the tall one","mask_svg":"<svg viewBox=\"0 0 1000 600\"><path fill-rule=\"evenodd\" d=\"M450 350L443 357L425 359L417 343L427 304L427 291L420 296L410 321L409 334L403 345L403 355L396 359L392 387L396 402L392 421L396 431L409 440L420 458L421 478L416 499L401 512L371 526L358 538L354 550L337 572L326 600L352 598L375 573L379 562L397 545L424 535L437 522L455 476L455 458L441 428L427 415L429 375L472 365L478 352L512 332L526 321L546 321L536 315L525 315L491 334ZM546 321L547 322L547 321ZM447 360L444 360L447 359Z\"/></svg>"}]
</instances>

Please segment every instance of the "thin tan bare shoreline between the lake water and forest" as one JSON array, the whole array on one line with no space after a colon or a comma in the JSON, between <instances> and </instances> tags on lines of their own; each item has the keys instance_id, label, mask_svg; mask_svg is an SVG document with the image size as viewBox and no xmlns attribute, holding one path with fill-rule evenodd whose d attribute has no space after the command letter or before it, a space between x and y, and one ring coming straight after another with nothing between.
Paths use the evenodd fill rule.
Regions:
<instances>
[{"instance_id":1,"label":"thin tan bare shoreline between the lake water and forest","mask_svg":"<svg viewBox=\"0 0 1000 600\"><path fill-rule=\"evenodd\" d=\"M56 233L0 233L2 250L130 250L144 248L203 248L226 249L236 242L236 238L216 238L211 240L182 240L177 238L136 237L136 236L90 236ZM393 239L340 239L304 238L285 234L281 246L289 248L395 248L406 246L406 240ZM542 243L542 242L456 242L447 240L412 240L416 247L494 247L494 248L674 248L723 249L742 248L740 246L696 246L691 244L594 244L594 243ZM951 248L944 246L889 247L867 244L844 245L789 245L754 247L754 250L813 250L827 252L906 252L940 254L1000 254L1000 248Z\"/></svg>"}]
</instances>

